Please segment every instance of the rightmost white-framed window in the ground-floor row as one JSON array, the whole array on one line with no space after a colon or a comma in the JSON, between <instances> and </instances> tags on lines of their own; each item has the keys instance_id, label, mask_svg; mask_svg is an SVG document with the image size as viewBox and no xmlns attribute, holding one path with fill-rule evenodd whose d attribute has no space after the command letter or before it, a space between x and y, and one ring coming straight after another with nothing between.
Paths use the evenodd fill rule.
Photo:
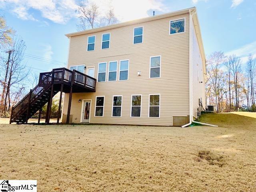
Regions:
<instances>
[{"instance_id":1,"label":"rightmost white-framed window in the ground-floor row","mask_svg":"<svg viewBox=\"0 0 256 192\"><path fill-rule=\"evenodd\" d=\"M149 95L148 117L160 117L160 94Z\"/></svg>"}]
</instances>

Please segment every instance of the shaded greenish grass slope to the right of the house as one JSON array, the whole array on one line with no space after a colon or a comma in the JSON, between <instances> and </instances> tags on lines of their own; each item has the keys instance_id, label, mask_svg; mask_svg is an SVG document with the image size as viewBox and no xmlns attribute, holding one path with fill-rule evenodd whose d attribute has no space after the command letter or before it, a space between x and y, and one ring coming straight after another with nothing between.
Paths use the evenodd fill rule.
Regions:
<instances>
[{"instance_id":1,"label":"shaded greenish grass slope to the right of the house","mask_svg":"<svg viewBox=\"0 0 256 192\"><path fill-rule=\"evenodd\" d=\"M230 128L256 128L256 118L230 113L206 113L198 121Z\"/></svg>"}]
</instances>

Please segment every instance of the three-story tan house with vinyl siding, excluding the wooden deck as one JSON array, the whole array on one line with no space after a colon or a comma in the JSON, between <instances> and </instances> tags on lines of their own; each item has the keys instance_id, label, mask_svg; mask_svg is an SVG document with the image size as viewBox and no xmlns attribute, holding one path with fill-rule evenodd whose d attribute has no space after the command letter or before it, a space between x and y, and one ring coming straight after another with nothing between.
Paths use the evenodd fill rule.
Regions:
<instances>
[{"instance_id":1,"label":"three-story tan house with vinyl siding, excluding the wooden deck","mask_svg":"<svg viewBox=\"0 0 256 192\"><path fill-rule=\"evenodd\" d=\"M94 69L94 78L98 80L100 66L100 79L106 72L106 81L96 83L96 92L73 93L70 109L70 121L73 123L90 122L97 124L134 124L134 125L159 125L159 126L180 126L189 122L190 115L190 60L193 68L196 68L196 75L193 71L193 116L196 118L198 99L202 98L204 104L204 51L202 48L201 36L198 35L199 25L194 26L197 17L192 16L191 11L195 8L162 14L67 34L70 45L68 53L67 68L74 66L84 67L85 74L90 74ZM170 21L184 19L184 32L170 34ZM191 20L191 22L190 22ZM190 26L190 24L193 26ZM143 27L142 43L134 44L134 28ZM192 34L190 34L190 30ZM102 35L110 34L109 48L102 49ZM140 35L140 33L139 33ZM89 44L94 43L94 50L88 51ZM192 36L192 41L190 41ZM106 37L106 38L105 38ZM140 38L140 37L139 37ZM200 39L198 41L198 39ZM104 36L108 41L108 35ZM193 42L193 46L190 45ZM190 51L190 46L192 50ZM90 48L93 45L90 45ZM190 55L193 52L193 58ZM152 58L153 57L153 58ZM157 58L155 58L157 57ZM158 71L158 66L150 69L150 61L158 64L160 58L160 77L150 78L150 70ZM192 58L192 59L191 59ZM128 60L128 80L120 80L120 73L125 74L124 60ZM111 66L110 66L111 62ZM116 62L116 63L115 63ZM106 63L106 65L101 64ZM116 65L117 64L117 65ZM120 67L120 65L122 65ZM116 68L115 68L116 66ZM156 67L157 69L154 69ZM90 70L90 72L89 72ZM121 71L121 72L120 72ZM197 72L198 71L198 72ZM116 72L116 81L108 81ZM140 73L140 75L138 75ZM197 74L199 74L199 83ZM122 76L121 76L122 78ZM140 117L132 117L132 95L140 95ZM158 102L150 105L150 95L159 95ZM121 106L113 108L113 98L122 96ZM104 97L103 116L96 114L96 97ZM115 97L116 98L116 97ZM156 96L156 101L158 96ZM65 94L64 107L62 110L62 121L65 121L68 110L69 94ZM90 112L87 120L84 121L84 104L90 102ZM102 105L102 104L99 104ZM154 106L153 106L154 105ZM159 107L158 107L159 106ZM113 116L113 110L120 110L121 116ZM87 109L88 106L87 106ZM98 111L99 108L97 108ZM102 108L101 108L102 109ZM136 112L133 108L133 112ZM150 117L150 112L156 114L159 109L159 117ZM154 111L156 110L156 111ZM88 113L88 112L87 112ZM138 114L137 114L138 115Z\"/></svg>"}]
</instances>

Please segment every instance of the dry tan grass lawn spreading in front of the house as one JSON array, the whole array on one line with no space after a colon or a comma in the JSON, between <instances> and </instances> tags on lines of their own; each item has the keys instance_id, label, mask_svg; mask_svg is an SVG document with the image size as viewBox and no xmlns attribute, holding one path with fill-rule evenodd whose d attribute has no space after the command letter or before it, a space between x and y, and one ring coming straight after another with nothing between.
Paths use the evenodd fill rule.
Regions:
<instances>
[{"instance_id":1,"label":"dry tan grass lawn spreading in front of the house","mask_svg":"<svg viewBox=\"0 0 256 192\"><path fill-rule=\"evenodd\" d=\"M256 191L256 118L220 127L0 124L0 179L39 192Z\"/></svg>"}]
</instances>

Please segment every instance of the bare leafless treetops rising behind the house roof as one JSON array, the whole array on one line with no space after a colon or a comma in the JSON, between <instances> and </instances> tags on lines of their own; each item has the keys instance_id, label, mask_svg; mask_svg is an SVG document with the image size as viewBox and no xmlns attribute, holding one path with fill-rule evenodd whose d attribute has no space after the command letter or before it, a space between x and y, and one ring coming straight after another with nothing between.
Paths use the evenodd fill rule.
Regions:
<instances>
[{"instance_id":1,"label":"bare leafless treetops rising behind the house roof","mask_svg":"<svg viewBox=\"0 0 256 192\"><path fill-rule=\"evenodd\" d=\"M80 23L77 25L78 30L93 29L95 27L112 25L117 22L113 9L110 9L106 16L100 16L99 8L95 3L81 3L76 12L80 15Z\"/></svg>"}]
</instances>

